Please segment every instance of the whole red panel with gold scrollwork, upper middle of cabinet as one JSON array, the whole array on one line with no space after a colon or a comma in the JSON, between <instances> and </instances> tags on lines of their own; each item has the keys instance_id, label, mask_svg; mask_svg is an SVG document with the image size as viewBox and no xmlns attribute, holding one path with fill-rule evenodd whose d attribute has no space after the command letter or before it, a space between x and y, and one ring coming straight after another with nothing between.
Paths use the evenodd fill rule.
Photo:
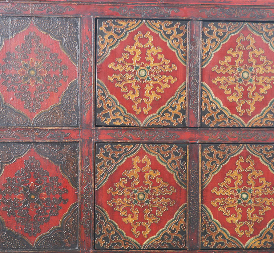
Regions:
<instances>
[{"instance_id":1,"label":"whole red panel with gold scrollwork, upper middle of cabinet","mask_svg":"<svg viewBox=\"0 0 274 253\"><path fill-rule=\"evenodd\" d=\"M187 22L99 19L96 124L184 127Z\"/></svg>"}]
</instances>

